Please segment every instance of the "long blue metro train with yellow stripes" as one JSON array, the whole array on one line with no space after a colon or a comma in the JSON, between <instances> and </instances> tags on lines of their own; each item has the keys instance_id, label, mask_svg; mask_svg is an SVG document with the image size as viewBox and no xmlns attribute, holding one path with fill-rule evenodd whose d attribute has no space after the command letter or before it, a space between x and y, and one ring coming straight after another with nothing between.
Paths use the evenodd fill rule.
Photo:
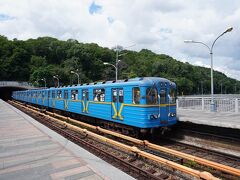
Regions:
<instances>
[{"instance_id":1,"label":"long blue metro train with yellow stripes","mask_svg":"<svg viewBox=\"0 0 240 180\"><path fill-rule=\"evenodd\" d=\"M12 98L141 133L176 123L176 84L158 77L15 91Z\"/></svg>"}]
</instances>

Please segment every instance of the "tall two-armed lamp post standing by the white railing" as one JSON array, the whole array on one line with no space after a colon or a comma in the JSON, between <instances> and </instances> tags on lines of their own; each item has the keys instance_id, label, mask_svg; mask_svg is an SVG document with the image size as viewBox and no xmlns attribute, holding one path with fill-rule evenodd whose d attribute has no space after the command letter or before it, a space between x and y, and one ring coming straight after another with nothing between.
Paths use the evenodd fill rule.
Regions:
<instances>
[{"instance_id":1,"label":"tall two-armed lamp post standing by the white railing","mask_svg":"<svg viewBox=\"0 0 240 180\"><path fill-rule=\"evenodd\" d=\"M216 111L215 109L215 103L214 103L214 99L213 99L213 95L214 95L214 86L213 86L213 47L216 43L216 41L223 36L224 34L231 32L233 30L232 27L228 28L226 31L224 31L222 34L220 34L212 43L212 46L209 47L207 44L200 42L200 41L194 41L194 40L184 40L185 43L198 43L198 44L202 44L205 47L208 48L209 53L210 53L210 58L211 58L211 111L214 112Z\"/></svg>"}]
</instances>

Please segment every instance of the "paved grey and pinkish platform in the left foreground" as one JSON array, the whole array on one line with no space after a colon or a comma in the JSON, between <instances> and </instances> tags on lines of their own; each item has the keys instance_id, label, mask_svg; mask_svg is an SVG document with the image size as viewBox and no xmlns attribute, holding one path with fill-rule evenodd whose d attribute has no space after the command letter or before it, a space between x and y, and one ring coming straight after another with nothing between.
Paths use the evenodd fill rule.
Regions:
<instances>
[{"instance_id":1,"label":"paved grey and pinkish platform in the left foreground","mask_svg":"<svg viewBox=\"0 0 240 180\"><path fill-rule=\"evenodd\" d=\"M0 179L134 179L0 99Z\"/></svg>"}]
</instances>

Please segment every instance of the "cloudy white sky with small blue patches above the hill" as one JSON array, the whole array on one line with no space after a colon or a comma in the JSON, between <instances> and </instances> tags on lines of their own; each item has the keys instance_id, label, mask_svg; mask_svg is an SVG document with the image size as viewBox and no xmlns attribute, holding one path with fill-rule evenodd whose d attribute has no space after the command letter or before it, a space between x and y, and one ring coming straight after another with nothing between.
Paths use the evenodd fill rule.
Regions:
<instances>
[{"instance_id":1,"label":"cloudy white sky with small blue patches above the hill","mask_svg":"<svg viewBox=\"0 0 240 180\"><path fill-rule=\"evenodd\" d=\"M240 80L239 0L0 0L0 34L26 40L51 36L112 48L149 49Z\"/></svg>"}]
</instances>

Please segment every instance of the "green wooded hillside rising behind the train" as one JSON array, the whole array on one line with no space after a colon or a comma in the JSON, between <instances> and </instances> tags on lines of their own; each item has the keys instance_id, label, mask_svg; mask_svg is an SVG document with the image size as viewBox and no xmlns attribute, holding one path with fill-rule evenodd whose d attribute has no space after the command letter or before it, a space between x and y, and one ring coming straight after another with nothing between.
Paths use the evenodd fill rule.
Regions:
<instances>
[{"instance_id":1,"label":"green wooded hillside rising behind the train","mask_svg":"<svg viewBox=\"0 0 240 180\"><path fill-rule=\"evenodd\" d=\"M123 50L119 57L119 79L159 76L177 83L179 94L210 93L210 69L183 63L164 54L143 49L140 52ZM103 62L115 63L116 52L97 44L83 44L69 39L61 41L51 37L8 40L0 36L0 80L35 81L46 78L53 86L53 75L58 74L60 84L77 83L71 70L78 69L82 82L112 80L115 69ZM38 81L40 86L43 81ZM215 93L239 93L240 82L214 71ZM236 88L237 87L237 88Z\"/></svg>"}]
</instances>

